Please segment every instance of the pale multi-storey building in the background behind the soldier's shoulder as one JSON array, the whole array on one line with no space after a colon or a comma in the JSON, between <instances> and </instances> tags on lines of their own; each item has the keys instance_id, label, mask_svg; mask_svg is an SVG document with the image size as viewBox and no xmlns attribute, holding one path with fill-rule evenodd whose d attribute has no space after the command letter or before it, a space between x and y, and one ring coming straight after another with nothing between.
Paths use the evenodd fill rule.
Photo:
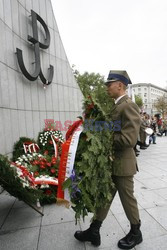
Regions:
<instances>
[{"instance_id":1,"label":"pale multi-storey building in the background behind the soldier's shoulder","mask_svg":"<svg viewBox=\"0 0 167 250\"><path fill-rule=\"evenodd\" d=\"M151 83L137 83L130 86L131 93L138 95L143 100L143 111L149 115L154 115L157 110L154 106L157 98L165 95L167 97L167 90L160 88Z\"/></svg>"}]
</instances>

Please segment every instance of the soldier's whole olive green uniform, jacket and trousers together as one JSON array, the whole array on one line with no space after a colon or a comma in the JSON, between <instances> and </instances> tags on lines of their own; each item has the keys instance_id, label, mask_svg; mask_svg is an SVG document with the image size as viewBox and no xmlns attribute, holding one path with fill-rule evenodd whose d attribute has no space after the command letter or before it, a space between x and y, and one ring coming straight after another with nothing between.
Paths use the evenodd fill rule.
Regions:
<instances>
[{"instance_id":1,"label":"soldier's whole olive green uniform, jacket and trousers together","mask_svg":"<svg viewBox=\"0 0 167 250\"><path fill-rule=\"evenodd\" d=\"M137 142L141 124L138 106L127 95L123 96L114 106L112 120L121 121L120 131L114 132L115 158L112 166L112 174L115 190L112 191L112 194L114 198L118 191L128 220L131 224L138 224L139 211L133 194L133 176L137 170L136 156L133 148ZM97 220L103 221L106 218L110 205L97 211Z\"/></svg>"}]
</instances>

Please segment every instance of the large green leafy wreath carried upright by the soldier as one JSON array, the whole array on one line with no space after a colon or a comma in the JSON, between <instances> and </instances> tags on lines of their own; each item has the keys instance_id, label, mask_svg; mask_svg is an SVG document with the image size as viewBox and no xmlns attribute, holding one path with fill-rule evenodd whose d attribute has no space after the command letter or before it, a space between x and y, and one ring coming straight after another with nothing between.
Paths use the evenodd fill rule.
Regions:
<instances>
[{"instance_id":1,"label":"large green leafy wreath carried upright by the soldier","mask_svg":"<svg viewBox=\"0 0 167 250\"><path fill-rule=\"evenodd\" d=\"M112 199L113 132L100 121L111 122L113 101L108 96L104 82L80 85L84 95L84 131L77 148L74 171L63 187L69 189L76 221L88 212L94 213Z\"/></svg>"}]
</instances>

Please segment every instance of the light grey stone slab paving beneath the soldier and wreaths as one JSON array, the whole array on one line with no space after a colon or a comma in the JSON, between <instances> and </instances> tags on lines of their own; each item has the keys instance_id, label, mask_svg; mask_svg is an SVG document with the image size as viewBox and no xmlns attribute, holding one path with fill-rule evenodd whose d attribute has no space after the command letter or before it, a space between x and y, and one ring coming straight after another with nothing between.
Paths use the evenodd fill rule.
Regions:
<instances>
[{"instance_id":1,"label":"light grey stone slab paving beneath the soldier and wreaths","mask_svg":"<svg viewBox=\"0 0 167 250\"><path fill-rule=\"evenodd\" d=\"M140 172L135 175L143 242L136 250L167 249L167 137L157 137L157 144L141 150ZM56 204L42 208L44 216L3 192L0 194L1 250L116 250L117 241L129 231L129 223L116 196L101 229L99 248L80 243L73 234L89 225L75 225L74 213Z\"/></svg>"}]
</instances>

